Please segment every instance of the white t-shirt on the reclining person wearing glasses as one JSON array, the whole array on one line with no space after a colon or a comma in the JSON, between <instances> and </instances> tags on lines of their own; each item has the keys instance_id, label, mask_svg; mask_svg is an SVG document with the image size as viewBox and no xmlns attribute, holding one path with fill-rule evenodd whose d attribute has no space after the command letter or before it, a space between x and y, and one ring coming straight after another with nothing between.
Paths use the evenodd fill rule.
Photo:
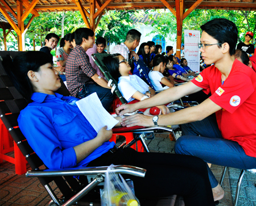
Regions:
<instances>
[{"instance_id":1,"label":"white t-shirt on the reclining person wearing glasses","mask_svg":"<svg viewBox=\"0 0 256 206\"><path fill-rule=\"evenodd\" d=\"M134 100L132 96L136 91L145 94L146 91L148 91L148 87L149 86L137 75L119 77L118 79L118 89L127 102Z\"/></svg>"}]
</instances>

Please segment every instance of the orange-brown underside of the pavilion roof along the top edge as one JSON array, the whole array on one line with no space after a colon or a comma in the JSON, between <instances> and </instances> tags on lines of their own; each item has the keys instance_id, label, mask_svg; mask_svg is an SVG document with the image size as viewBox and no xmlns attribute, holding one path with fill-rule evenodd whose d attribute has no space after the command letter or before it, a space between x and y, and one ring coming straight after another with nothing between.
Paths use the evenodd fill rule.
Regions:
<instances>
[{"instance_id":1,"label":"orange-brown underside of the pavilion roof along the top edge","mask_svg":"<svg viewBox=\"0 0 256 206\"><path fill-rule=\"evenodd\" d=\"M6 0L11 7L16 9L16 1ZM28 0L31 1L31 0ZM97 0L102 5L109 0ZM175 0L167 1L175 9ZM196 0L184 0L184 9L189 9ZM89 0L81 0L82 6L89 9ZM108 10L139 10L139 9L166 9L160 0L113 0L109 3ZM35 8L38 12L58 12L78 10L75 0L40 0ZM220 9L220 10L256 10L254 0L211 0L203 1L196 9Z\"/></svg>"}]
</instances>

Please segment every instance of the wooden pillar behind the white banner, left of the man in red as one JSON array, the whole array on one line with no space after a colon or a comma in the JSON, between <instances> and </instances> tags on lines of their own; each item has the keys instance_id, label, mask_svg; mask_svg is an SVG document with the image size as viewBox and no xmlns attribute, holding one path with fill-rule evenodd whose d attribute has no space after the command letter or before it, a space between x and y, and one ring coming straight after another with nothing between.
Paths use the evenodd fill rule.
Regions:
<instances>
[{"instance_id":1,"label":"wooden pillar behind the white banner, left of the man in red","mask_svg":"<svg viewBox=\"0 0 256 206\"><path fill-rule=\"evenodd\" d=\"M176 20L177 20L176 57L180 58L184 0L176 0L175 1L175 6L176 6Z\"/></svg>"}]
</instances>

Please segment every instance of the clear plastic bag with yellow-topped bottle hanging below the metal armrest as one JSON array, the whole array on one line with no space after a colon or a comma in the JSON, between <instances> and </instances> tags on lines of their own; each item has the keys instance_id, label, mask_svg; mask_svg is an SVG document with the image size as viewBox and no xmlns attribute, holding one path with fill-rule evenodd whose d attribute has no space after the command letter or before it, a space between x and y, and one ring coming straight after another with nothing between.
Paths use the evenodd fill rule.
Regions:
<instances>
[{"instance_id":1,"label":"clear plastic bag with yellow-topped bottle hanging below the metal armrest","mask_svg":"<svg viewBox=\"0 0 256 206\"><path fill-rule=\"evenodd\" d=\"M130 185L133 187L131 182ZM101 205L140 206L130 187L120 174L114 173L114 167L110 165L105 175L104 189L101 191Z\"/></svg>"}]
</instances>

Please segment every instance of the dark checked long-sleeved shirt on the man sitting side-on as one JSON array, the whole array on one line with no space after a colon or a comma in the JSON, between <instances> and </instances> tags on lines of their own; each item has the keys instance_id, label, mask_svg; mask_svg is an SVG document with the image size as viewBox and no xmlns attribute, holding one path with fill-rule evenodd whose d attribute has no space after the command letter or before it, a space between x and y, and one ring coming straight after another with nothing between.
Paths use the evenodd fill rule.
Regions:
<instances>
[{"instance_id":1,"label":"dark checked long-sleeved shirt on the man sitting side-on","mask_svg":"<svg viewBox=\"0 0 256 206\"><path fill-rule=\"evenodd\" d=\"M88 55L80 45L76 45L69 54L65 71L68 90L72 96L76 97L86 83L94 83L91 77L96 74L96 69L90 64Z\"/></svg>"}]
</instances>

